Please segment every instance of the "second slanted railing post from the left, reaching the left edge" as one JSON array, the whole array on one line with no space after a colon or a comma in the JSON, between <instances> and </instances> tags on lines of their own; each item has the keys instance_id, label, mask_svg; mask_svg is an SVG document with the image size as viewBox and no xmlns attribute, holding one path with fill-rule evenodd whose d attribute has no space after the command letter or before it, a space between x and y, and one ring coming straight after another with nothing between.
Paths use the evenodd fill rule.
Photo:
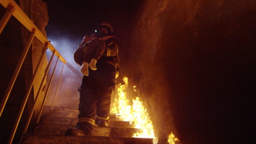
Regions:
<instances>
[{"instance_id":1,"label":"second slanted railing post from the left, reaching the left edge","mask_svg":"<svg viewBox=\"0 0 256 144\"><path fill-rule=\"evenodd\" d=\"M7 99L9 98L10 91L12 91L12 87L15 83L15 80L16 80L18 74L19 74L19 70L21 70L21 66L24 62L24 59L25 59L27 53L28 53L28 49L30 48L32 40L35 36L35 31L36 31L36 29L33 28L33 30L31 31L30 37L28 39L27 45L25 46L25 49L23 50L21 58L19 59L19 62L17 64L16 68L15 68L15 71L14 71L13 75L12 75L12 79L10 80L9 85L7 86L7 89L4 93L3 99L2 99L1 104L0 104L0 117L1 117L1 114L3 113L3 109L4 109L4 106L7 102Z\"/></svg>"}]
</instances>

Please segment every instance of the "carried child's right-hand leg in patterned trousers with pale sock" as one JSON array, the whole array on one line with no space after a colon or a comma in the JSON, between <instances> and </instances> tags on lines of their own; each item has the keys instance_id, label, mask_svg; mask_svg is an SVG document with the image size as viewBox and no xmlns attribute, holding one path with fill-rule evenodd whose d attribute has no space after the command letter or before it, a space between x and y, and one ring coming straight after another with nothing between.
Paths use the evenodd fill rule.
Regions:
<instances>
[{"instance_id":1,"label":"carried child's right-hand leg in patterned trousers with pale sock","mask_svg":"<svg viewBox=\"0 0 256 144\"><path fill-rule=\"evenodd\" d=\"M89 67L92 70L97 70L96 63L100 59L100 57L103 55L106 47L106 42L104 40L100 40L98 46L96 47L95 53L91 59L91 62L89 63Z\"/></svg>"}]
</instances>

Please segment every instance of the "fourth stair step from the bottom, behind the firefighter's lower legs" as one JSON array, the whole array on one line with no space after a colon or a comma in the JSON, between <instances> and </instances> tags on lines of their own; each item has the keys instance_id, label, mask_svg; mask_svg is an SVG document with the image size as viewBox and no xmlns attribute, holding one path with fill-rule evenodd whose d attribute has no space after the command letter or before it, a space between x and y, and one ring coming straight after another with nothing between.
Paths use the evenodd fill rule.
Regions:
<instances>
[{"instance_id":1,"label":"fourth stair step from the bottom, behind the firefighter's lower legs","mask_svg":"<svg viewBox=\"0 0 256 144\"><path fill-rule=\"evenodd\" d=\"M79 114L78 110L58 108L58 109L55 109L55 110L51 110L49 116L77 118L78 114ZM109 115L109 120L121 120L121 119L116 117L116 114L110 114Z\"/></svg>"}]
</instances>

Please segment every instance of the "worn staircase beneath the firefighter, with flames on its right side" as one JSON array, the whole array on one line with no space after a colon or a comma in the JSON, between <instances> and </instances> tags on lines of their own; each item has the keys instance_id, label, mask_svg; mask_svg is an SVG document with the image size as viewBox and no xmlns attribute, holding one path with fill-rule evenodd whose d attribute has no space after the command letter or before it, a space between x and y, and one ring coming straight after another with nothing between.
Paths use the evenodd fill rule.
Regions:
<instances>
[{"instance_id":1,"label":"worn staircase beneath the firefighter, with flames on its right side","mask_svg":"<svg viewBox=\"0 0 256 144\"><path fill-rule=\"evenodd\" d=\"M44 108L43 113L33 133L25 134L21 144L153 144L153 138L132 137L137 132L134 124L121 121L115 114L110 115L108 128L95 126L91 136L65 136L67 128L75 127L78 110Z\"/></svg>"}]
</instances>

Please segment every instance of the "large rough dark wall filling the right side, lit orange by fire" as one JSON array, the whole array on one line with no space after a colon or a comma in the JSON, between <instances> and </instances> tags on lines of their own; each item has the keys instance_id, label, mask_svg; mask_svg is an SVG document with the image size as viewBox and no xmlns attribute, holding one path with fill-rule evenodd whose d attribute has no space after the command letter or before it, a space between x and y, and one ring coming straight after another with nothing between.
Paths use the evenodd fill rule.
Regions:
<instances>
[{"instance_id":1,"label":"large rough dark wall filling the right side, lit orange by fire","mask_svg":"<svg viewBox=\"0 0 256 144\"><path fill-rule=\"evenodd\" d=\"M184 144L250 141L255 25L254 0L145 1L123 68L158 137L173 131Z\"/></svg>"}]
</instances>

